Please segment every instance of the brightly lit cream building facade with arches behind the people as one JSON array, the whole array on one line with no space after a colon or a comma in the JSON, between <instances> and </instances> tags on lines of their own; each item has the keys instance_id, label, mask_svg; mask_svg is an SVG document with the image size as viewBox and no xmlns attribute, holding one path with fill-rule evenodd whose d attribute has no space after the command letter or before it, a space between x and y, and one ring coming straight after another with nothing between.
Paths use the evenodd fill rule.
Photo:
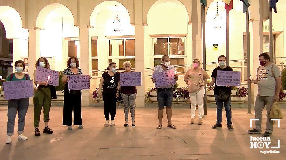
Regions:
<instances>
[{"instance_id":1,"label":"brightly lit cream building facade with arches behind the people","mask_svg":"<svg viewBox=\"0 0 286 160\"><path fill-rule=\"evenodd\" d=\"M286 0L273 12L273 61L284 68L286 55ZM250 12L251 74L256 75L258 55L269 52L268 1L253 1ZM214 20L219 14L220 19ZM217 57L226 54L226 11L220 0L207 0L206 62L211 74ZM120 24L116 21L118 17ZM92 102L101 74L109 62L123 69L128 60L142 72L137 86L136 106L144 106L145 92L154 88L152 68L168 54L178 67L179 86L194 58L202 60L202 22L200 0L2 0L0 20L6 38L13 40L13 61L27 62L33 74L36 60L47 57L51 69L64 70L67 59L76 56L84 74L93 71L91 89L83 91L82 105ZM247 80L245 14L242 2L233 0L230 11L230 65ZM285 61L286 62L286 61ZM189 64L189 65L188 65ZM245 83L244 83L245 84ZM257 87L253 88L253 99Z\"/></svg>"}]
</instances>

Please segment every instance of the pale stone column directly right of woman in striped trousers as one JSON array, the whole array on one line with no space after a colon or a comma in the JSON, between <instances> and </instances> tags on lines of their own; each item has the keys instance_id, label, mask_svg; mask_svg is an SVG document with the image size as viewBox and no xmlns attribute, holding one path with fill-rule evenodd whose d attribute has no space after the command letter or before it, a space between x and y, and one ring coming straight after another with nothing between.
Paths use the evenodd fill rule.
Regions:
<instances>
[{"instance_id":1,"label":"pale stone column directly right of woman in striped trousers","mask_svg":"<svg viewBox=\"0 0 286 160\"><path fill-rule=\"evenodd\" d=\"M145 106L145 65L144 65L144 26L143 3L134 0L135 19L135 71L141 72L142 86L137 86L136 107Z\"/></svg>"}]
</instances>

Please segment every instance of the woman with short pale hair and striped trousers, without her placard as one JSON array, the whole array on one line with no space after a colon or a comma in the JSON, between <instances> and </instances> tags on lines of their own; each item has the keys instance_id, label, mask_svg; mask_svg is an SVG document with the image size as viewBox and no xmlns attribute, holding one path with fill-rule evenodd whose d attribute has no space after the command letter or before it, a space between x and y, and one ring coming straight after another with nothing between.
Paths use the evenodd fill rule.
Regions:
<instances>
[{"instance_id":1,"label":"woman with short pale hair and striped trousers, without her placard","mask_svg":"<svg viewBox=\"0 0 286 160\"><path fill-rule=\"evenodd\" d=\"M125 61L123 63L125 72L124 73L130 73L133 72L131 71L131 63L129 61ZM131 120L132 120L132 127L135 127L135 98L136 98L136 87L135 86L125 86L121 87L121 96L123 99L124 103L124 115L125 115L125 124L124 126L128 126L128 114L129 114L129 109L131 113Z\"/></svg>"}]
</instances>

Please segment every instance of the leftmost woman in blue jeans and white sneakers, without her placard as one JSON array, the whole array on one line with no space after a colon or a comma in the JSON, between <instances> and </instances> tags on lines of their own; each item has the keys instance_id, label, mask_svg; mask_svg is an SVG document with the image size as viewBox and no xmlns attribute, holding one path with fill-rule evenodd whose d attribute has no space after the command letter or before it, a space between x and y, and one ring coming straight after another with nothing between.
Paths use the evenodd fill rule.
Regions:
<instances>
[{"instance_id":1,"label":"leftmost woman in blue jeans and white sneakers, without her placard","mask_svg":"<svg viewBox=\"0 0 286 160\"><path fill-rule=\"evenodd\" d=\"M15 73L7 76L6 81L24 81L30 80L28 74L23 73L25 63L21 60L15 62ZM5 96L4 96L5 98ZM29 98L19 98L8 100L8 122L7 122L7 140L6 144L12 143L12 135L14 134L15 119L18 111L18 139L27 140L22 133L24 132L25 117L29 107Z\"/></svg>"}]
</instances>

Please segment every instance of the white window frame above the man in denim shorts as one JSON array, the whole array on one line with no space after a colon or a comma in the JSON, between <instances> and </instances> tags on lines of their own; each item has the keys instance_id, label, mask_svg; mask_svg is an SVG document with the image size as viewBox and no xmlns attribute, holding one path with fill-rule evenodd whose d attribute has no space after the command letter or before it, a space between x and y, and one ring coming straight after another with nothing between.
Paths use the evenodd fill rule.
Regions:
<instances>
[{"instance_id":1,"label":"white window frame above the man in denim shorts","mask_svg":"<svg viewBox=\"0 0 286 160\"><path fill-rule=\"evenodd\" d=\"M187 60L187 53L186 53L186 35L184 36L151 36L151 41L152 41L152 60L151 61L151 67L155 67L154 63L155 63L155 59L156 58L162 58L162 55L155 55L155 47L154 47L154 42L153 39L154 38L167 38L167 42L168 42L168 56L171 58L184 58L184 61L186 62ZM170 38L184 38L184 55L170 55Z\"/></svg>"}]
</instances>

